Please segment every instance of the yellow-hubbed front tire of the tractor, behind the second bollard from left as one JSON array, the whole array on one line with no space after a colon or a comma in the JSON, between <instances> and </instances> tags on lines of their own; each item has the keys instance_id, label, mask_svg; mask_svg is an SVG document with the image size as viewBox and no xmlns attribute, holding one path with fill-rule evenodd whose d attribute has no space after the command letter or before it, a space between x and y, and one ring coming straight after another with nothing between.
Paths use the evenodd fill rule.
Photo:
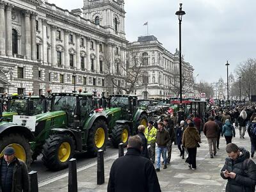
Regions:
<instances>
[{"instance_id":1,"label":"yellow-hubbed front tire of the tractor, behind the second bollard from left","mask_svg":"<svg viewBox=\"0 0 256 192\"><path fill-rule=\"evenodd\" d=\"M67 168L68 161L74 156L74 141L69 135L51 135L43 145L42 161L49 170Z\"/></svg>"}]
</instances>

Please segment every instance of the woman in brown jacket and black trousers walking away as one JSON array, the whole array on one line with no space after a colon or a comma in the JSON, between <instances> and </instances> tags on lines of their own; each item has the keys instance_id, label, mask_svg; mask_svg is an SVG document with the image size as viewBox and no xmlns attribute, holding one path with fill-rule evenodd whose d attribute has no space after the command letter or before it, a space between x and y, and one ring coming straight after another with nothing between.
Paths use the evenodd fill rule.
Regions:
<instances>
[{"instance_id":1,"label":"woman in brown jacket and black trousers walking away","mask_svg":"<svg viewBox=\"0 0 256 192\"><path fill-rule=\"evenodd\" d=\"M200 147L201 138L193 122L190 122L187 129L183 132L182 145L188 149L188 167L196 169L196 147Z\"/></svg>"}]
</instances>

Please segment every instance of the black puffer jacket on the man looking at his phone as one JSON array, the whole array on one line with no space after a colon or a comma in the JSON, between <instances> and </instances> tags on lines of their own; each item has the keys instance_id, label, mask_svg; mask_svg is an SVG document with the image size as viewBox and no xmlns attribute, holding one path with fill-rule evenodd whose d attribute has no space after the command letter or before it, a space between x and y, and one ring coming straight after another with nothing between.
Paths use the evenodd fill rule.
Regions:
<instances>
[{"instance_id":1,"label":"black puffer jacket on the man looking at his phone","mask_svg":"<svg viewBox=\"0 0 256 192\"><path fill-rule=\"evenodd\" d=\"M226 158L225 164L221 169L221 177L228 179L226 192L254 192L256 184L256 164L252 160L246 160L250 158L250 153L244 148L239 148L241 155L232 160ZM244 162L246 160L246 162ZM226 178L224 171L236 173L235 179Z\"/></svg>"}]
</instances>

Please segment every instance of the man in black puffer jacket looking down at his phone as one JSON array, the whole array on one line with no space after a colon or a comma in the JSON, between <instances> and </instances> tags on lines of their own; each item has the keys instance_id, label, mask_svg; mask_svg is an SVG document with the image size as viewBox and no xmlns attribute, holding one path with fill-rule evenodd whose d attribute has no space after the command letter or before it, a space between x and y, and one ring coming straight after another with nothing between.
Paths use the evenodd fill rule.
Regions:
<instances>
[{"instance_id":1,"label":"man in black puffer jacket looking down at his phone","mask_svg":"<svg viewBox=\"0 0 256 192\"><path fill-rule=\"evenodd\" d=\"M226 151L229 158L220 173L223 179L228 179L226 192L255 191L256 164L250 159L250 153L234 143L228 143Z\"/></svg>"}]
</instances>

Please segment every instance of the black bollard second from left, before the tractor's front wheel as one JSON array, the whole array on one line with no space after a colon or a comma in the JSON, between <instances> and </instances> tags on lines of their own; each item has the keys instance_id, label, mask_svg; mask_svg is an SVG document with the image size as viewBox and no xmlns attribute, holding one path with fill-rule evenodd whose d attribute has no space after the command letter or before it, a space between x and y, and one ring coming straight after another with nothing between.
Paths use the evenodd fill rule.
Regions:
<instances>
[{"instance_id":1,"label":"black bollard second from left, before the tractor's front wheel","mask_svg":"<svg viewBox=\"0 0 256 192\"><path fill-rule=\"evenodd\" d=\"M68 192L77 192L76 159L68 161Z\"/></svg>"}]
</instances>

